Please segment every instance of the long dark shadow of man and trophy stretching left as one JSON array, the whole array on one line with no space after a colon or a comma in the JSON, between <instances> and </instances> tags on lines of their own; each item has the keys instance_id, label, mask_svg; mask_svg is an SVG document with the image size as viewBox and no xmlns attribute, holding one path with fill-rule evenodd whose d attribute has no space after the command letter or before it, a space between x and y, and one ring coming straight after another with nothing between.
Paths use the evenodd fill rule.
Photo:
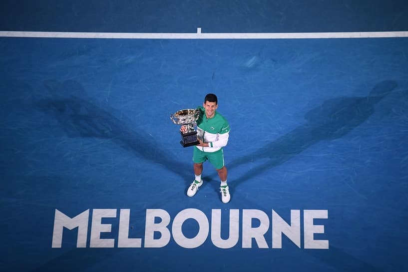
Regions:
<instances>
[{"instance_id":1,"label":"long dark shadow of man and trophy stretching left","mask_svg":"<svg viewBox=\"0 0 408 272\"><path fill-rule=\"evenodd\" d=\"M124 117L120 120L91 103L83 87L76 81L68 80L60 83L49 80L45 81L44 85L51 97L41 99L36 104L40 110L54 114L68 137L109 139L122 148L134 152L140 159L158 163L183 180L188 179L190 173L184 172L185 169L191 168L190 165L183 164L175 160L171 154L164 152L160 143L140 127L137 131L131 129L126 126L126 123L130 122L123 121Z\"/></svg>"}]
</instances>

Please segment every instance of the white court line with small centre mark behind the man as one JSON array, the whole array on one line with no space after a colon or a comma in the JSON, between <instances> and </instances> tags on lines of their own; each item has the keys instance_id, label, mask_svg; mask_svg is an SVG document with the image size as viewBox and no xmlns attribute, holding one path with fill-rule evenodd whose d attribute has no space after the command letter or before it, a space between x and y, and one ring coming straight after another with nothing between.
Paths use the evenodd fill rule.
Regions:
<instances>
[{"instance_id":1,"label":"white court line with small centre mark behind the man","mask_svg":"<svg viewBox=\"0 0 408 272\"><path fill-rule=\"evenodd\" d=\"M106 38L106 39L321 39L321 38L397 38L408 31L380 32L300 32L300 33L115 33L0 31L0 37L26 38Z\"/></svg>"}]
</instances>

